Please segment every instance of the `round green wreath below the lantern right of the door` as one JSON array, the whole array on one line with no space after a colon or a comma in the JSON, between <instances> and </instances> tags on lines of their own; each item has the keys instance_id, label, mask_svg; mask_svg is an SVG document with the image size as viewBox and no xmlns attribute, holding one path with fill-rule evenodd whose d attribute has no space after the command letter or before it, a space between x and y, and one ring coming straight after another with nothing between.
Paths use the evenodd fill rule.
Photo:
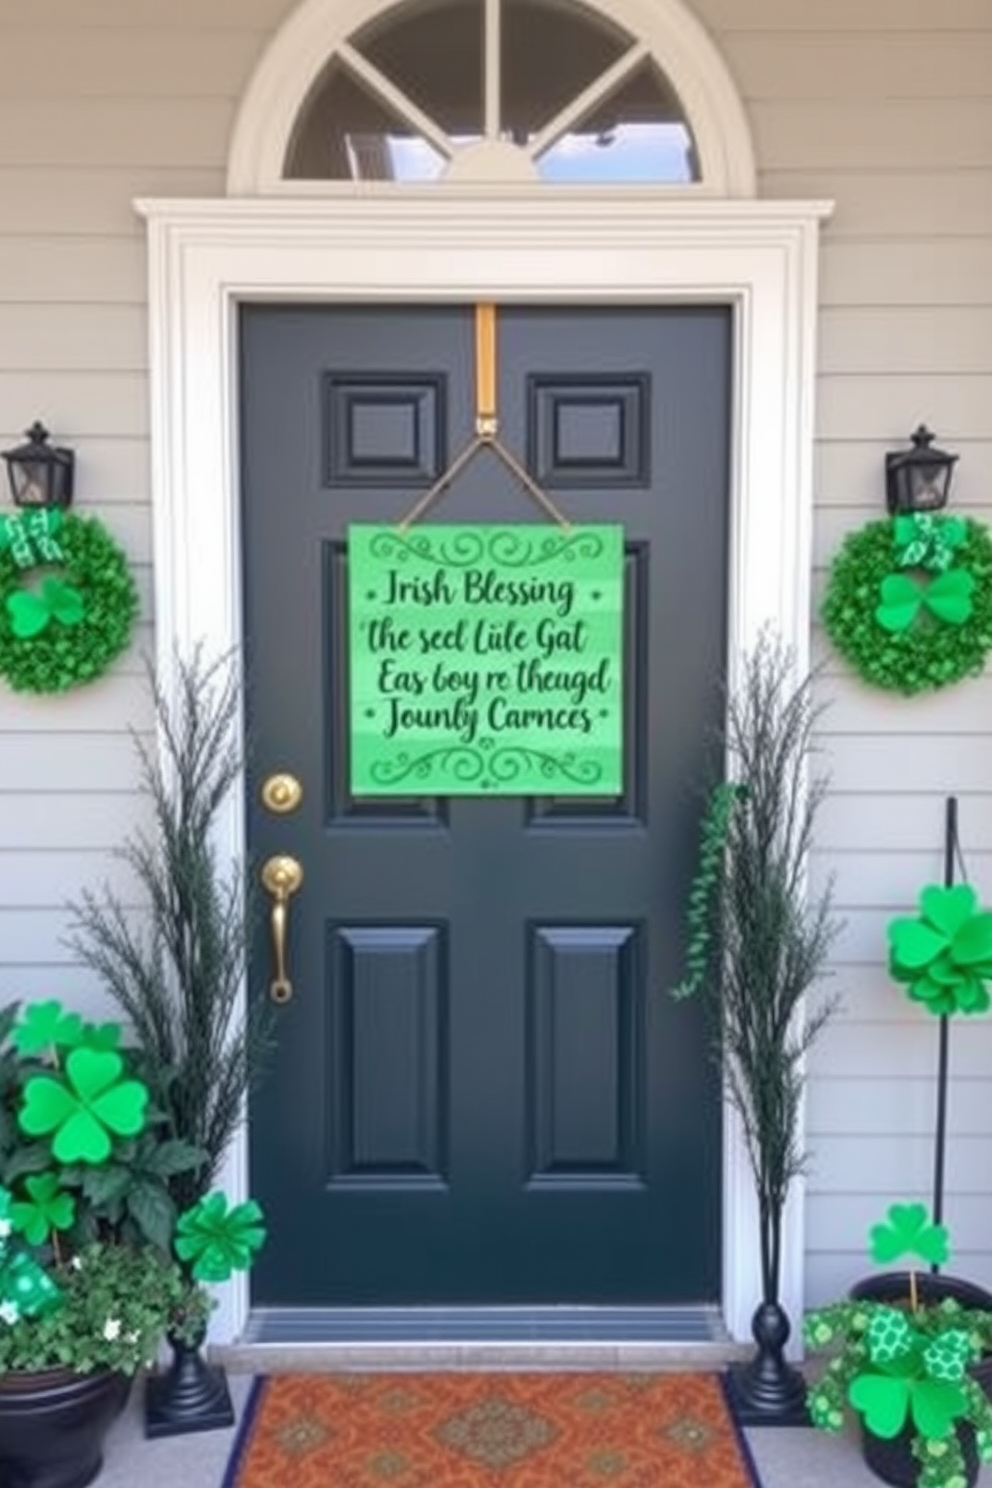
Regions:
<instances>
[{"instance_id":1,"label":"round green wreath below the lantern right of the door","mask_svg":"<svg viewBox=\"0 0 992 1488\"><path fill-rule=\"evenodd\" d=\"M898 524L903 524L900 528ZM915 524L915 546L903 540ZM935 574L935 577L934 577ZM971 518L894 518L851 533L822 604L866 682L912 695L982 671L992 650L992 539Z\"/></svg>"}]
</instances>

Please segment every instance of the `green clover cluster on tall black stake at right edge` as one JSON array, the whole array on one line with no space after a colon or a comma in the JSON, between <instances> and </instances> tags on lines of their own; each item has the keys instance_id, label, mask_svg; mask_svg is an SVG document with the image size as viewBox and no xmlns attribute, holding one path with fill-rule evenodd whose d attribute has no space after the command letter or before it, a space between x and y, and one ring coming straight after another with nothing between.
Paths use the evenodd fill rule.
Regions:
<instances>
[{"instance_id":1,"label":"green clover cluster on tall black stake at right edge","mask_svg":"<svg viewBox=\"0 0 992 1488\"><path fill-rule=\"evenodd\" d=\"M992 914L970 884L928 884L919 917L889 921L889 975L933 1013L983 1013L992 1004Z\"/></svg>"}]
</instances>

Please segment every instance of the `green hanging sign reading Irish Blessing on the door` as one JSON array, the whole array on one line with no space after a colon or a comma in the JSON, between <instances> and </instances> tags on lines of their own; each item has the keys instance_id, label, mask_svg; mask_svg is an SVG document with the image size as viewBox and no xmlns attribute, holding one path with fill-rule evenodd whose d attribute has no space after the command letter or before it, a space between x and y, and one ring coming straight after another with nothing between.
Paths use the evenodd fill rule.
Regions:
<instances>
[{"instance_id":1,"label":"green hanging sign reading Irish Blessing on the door","mask_svg":"<svg viewBox=\"0 0 992 1488\"><path fill-rule=\"evenodd\" d=\"M355 796L616 796L623 528L348 530Z\"/></svg>"}]
</instances>

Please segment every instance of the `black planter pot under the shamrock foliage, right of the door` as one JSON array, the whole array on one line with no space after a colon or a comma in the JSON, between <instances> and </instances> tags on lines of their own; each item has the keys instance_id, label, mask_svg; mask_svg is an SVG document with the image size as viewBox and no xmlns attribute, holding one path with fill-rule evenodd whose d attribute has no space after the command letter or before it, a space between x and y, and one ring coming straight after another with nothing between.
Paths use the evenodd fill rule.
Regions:
<instances>
[{"instance_id":1,"label":"black planter pot under the shamrock foliage, right of the door","mask_svg":"<svg viewBox=\"0 0 992 1488\"><path fill-rule=\"evenodd\" d=\"M976 1287L971 1281L961 1281L958 1277L940 1277L930 1272L916 1275L916 1290L922 1302L941 1302L953 1298L962 1306L992 1312L992 1293L985 1287ZM886 1302L895 1305L909 1299L909 1272L886 1271L879 1277L866 1277L851 1287L851 1296L861 1302ZM992 1399L992 1354L986 1354L968 1373L977 1379L986 1396ZM958 1440L964 1455L968 1488L974 1488L979 1479L979 1451L974 1440L974 1428L964 1421L958 1427ZM861 1423L861 1451L864 1461L882 1482L892 1488L916 1488L919 1478L919 1463L912 1449L913 1431L906 1427L894 1437L876 1436L875 1431Z\"/></svg>"}]
</instances>

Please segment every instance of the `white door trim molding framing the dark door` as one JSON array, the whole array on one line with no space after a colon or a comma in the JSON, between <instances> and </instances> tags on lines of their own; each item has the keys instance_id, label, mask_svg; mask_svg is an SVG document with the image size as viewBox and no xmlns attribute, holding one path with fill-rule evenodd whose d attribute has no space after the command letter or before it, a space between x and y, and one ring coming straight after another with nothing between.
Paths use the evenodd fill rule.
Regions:
<instances>
[{"instance_id":1,"label":"white door trim molding framing the dark door","mask_svg":"<svg viewBox=\"0 0 992 1488\"><path fill-rule=\"evenodd\" d=\"M675 201L651 189L350 186L320 199L141 199L149 231L156 659L236 647L241 619L236 311L242 301L698 304L733 310L729 682L772 623L809 655L817 251L827 202ZM244 862L239 799L219 851ZM247 1134L225 1174L247 1190ZM803 1301L803 1189L787 1213L782 1298ZM757 1222L724 1103L723 1312L750 1336ZM222 1289L219 1342L248 1315Z\"/></svg>"}]
</instances>

